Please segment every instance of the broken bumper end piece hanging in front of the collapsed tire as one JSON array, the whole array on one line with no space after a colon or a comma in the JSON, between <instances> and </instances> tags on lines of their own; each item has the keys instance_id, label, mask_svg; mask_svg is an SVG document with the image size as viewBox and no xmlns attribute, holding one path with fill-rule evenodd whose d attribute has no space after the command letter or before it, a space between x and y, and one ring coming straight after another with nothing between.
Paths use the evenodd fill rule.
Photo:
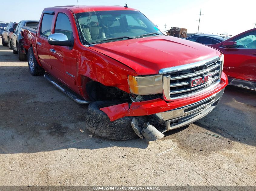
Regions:
<instances>
[{"instance_id":1,"label":"broken bumper end piece hanging in front of the collapsed tire","mask_svg":"<svg viewBox=\"0 0 256 191\"><path fill-rule=\"evenodd\" d=\"M132 129L135 133L146 141L156 141L160 138L163 138L165 135L158 131L154 126L152 126L149 122L144 123L143 127L139 127L137 120L135 118L131 121Z\"/></svg>"}]
</instances>

